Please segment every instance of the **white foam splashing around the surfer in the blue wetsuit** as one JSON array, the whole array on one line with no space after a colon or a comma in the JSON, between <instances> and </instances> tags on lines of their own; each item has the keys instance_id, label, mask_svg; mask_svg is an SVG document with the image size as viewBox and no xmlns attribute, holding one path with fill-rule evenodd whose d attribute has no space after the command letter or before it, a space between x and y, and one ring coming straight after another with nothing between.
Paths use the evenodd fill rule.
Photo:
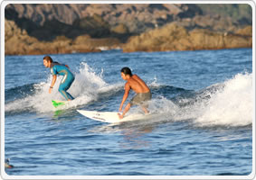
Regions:
<instances>
[{"instance_id":1,"label":"white foam splashing around the surfer in the blue wetsuit","mask_svg":"<svg viewBox=\"0 0 256 180\"><path fill-rule=\"evenodd\" d=\"M52 94L49 94L49 86L52 82L52 76L49 75L46 82L34 85L35 93L28 95L23 99L15 100L12 103L5 104L5 112L32 110L35 112L51 112L55 111L52 107L52 99L64 100L62 94L58 92L58 85L62 81L62 76L58 76ZM68 92L75 99L63 106L61 109L74 108L81 104L96 101L100 93L117 89L119 85L108 85L94 70L86 63L81 63L80 71L75 74L75 80Z\"/></svg>"}]
</instances>

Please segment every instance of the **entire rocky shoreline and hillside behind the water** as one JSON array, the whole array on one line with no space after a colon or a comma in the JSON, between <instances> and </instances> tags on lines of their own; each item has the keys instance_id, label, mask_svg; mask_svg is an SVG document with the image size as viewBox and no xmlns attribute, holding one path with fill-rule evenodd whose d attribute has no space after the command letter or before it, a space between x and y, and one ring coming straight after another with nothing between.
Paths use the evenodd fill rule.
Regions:
<instances>
[{"instance_id":1,"label":"entire rocky shoreline and hillside behind the water","mask_svg":"<svg viewBox=\"0 0 256 180\"><path fill-rule=\"evenodd\" d=\"M5 54L251 47L249 4L8 4Z\"/></svg>"}]
</instances>

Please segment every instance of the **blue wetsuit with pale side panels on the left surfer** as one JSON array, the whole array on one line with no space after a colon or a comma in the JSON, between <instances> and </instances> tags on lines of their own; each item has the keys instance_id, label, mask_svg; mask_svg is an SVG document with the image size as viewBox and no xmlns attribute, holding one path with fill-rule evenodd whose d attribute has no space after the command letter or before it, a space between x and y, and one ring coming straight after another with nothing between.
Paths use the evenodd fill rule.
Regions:
<instances>
[{"instance_id":1,"label":"blue wetsuit with pale side panels on the left surfer","mask_svg":"<svg viewBox=\"0 0 256 180\"><path fill-rule=\"evenodd\" d=\"M71 73L70 69L58 62L52 62L51 66L52 75L61 75L62 83L59 86L59 92L65 97L66 100L74 99L71 94L67 92L67 90L71 87L75 76Z\"/></svg>"}]
</instances>

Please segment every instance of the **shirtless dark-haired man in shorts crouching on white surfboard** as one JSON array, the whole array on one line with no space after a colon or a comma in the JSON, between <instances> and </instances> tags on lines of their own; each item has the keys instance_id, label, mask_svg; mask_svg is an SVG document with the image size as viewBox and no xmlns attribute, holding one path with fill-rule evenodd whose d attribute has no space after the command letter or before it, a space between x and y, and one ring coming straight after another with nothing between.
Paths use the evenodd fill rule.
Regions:
<instances>
[{"instance_id":1,"label":"shirtless dark-haired man in shorts crouching on white surfboard","mask_svg":"<svg viewBox=\"0 0 256 180\"><path fill-rule=\"evenodd\" d=\"M119 119L122 119L125 116L132 105L140 105L142 110L145 113L148 113L147 101L151 100L152 94L146 83L141 78L139 78L139 76L132 75L129 67L123 67L121 69L121 76L125 81L127 81L127 83L125 85L125 94L123 96L122 103L120 104L119 112L122 112L123 104L128 98L129 90L132 89L137 94L127 104L122 114L118 113Z\"/></svg>"}]
</instances>

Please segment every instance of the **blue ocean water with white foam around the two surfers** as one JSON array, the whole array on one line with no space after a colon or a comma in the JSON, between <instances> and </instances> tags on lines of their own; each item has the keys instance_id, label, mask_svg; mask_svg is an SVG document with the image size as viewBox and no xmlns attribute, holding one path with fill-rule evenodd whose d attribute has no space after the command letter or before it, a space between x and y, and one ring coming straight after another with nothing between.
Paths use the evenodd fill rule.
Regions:
<instances>
[{"instance_id":1,"label":"blue ocean water with white foam around the two surfers","mask_svg":"<svg viewBox=\"0 0 256 180\"><path fill-rule=\"evenodd\" d=\"M252 50L106 50L52 55L75 97L61 109L42 56L5 56L7 175L250 175ZM76 110L118 112L122 67L145 80L157 117L111 125ZM128 101L134 95L130 92ZM129 113L142 112L132 107ZM1 124L2 125L2 124Z\"/></svg>"}]
</instances>

